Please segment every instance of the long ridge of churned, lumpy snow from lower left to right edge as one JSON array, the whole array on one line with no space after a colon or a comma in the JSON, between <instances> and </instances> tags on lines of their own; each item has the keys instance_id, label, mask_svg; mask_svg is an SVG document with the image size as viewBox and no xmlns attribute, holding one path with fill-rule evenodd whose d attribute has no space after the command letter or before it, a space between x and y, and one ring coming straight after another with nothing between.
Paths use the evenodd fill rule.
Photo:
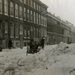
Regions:
<instances>
[{"instance_id":1,"label":"long ridge of churned, lumpy snow from lower left to right edge","mask_svg":"<svg viewBox=\"0 0 75 75\"><path fill-rule=\"evenodd\" d=\"M0 75L26 75L33 69L48 69L49 66L58 62L57 56L63 54L75 54L75 44L61 42L52 49L45 48L37 54L29 54L25 57L9 58L2 56L0 60ZM23 55L23 54L22 54Z\"/></svg>"}]
</instances>

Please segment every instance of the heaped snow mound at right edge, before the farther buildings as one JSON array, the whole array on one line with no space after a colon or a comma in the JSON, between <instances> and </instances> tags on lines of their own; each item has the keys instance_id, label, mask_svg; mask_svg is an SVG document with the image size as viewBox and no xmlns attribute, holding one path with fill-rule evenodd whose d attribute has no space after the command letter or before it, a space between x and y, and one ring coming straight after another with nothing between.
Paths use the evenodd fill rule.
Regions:
<instances>
[{"instance_id":1,"label":"heaped snow mound at right edge, before the farther buildings","mask_svg":"<svg viewBox=\"0 0 75 75\"><path fill-rule=\"evenodd\" d=\"M56 55L61 55L61 54L68 54L68 53L72 53L75 54L75 44L66 44L61 42L60 44L57 45L57 47L55 49L53 49L54 54Z\"/></svg>"}]
</instances>

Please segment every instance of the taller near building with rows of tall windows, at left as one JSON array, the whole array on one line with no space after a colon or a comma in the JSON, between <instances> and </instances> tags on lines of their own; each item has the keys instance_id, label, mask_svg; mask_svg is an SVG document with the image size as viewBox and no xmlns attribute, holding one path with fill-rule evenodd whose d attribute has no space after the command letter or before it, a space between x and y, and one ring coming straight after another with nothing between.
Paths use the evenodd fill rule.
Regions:
<instances>
[{"instance_id":1,"label":"taller near building with rows of tall windows, at left","mask_svg":"<svg viewBox=\"0 0 75 75\"><path fill-rule=\"evenodd\" d=\"M40 0L0 0L0 44L27 45L30 38L47 37L47 6Z\"/></svg>"}]
</instances>

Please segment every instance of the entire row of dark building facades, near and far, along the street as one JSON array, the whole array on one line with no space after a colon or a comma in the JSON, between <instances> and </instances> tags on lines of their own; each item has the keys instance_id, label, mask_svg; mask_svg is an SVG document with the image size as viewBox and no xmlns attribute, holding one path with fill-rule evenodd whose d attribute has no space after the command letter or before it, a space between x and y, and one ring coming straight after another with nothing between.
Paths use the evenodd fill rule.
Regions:
<instances>
[{"instance_id":1,"label":"entire row of dark building facades, near and far, along the street","mask_svg":"<svg viewBox=\"0 0 75 75\"><path fill-rule=\"evenodd\" d=\"M47 12L48 6L40 0L0 0L0 44L8 47L26 46L31 38L46 44L72 42L74 27ZM73 38L74 39L74 38Z\"/></svg>"}]
</instances>

